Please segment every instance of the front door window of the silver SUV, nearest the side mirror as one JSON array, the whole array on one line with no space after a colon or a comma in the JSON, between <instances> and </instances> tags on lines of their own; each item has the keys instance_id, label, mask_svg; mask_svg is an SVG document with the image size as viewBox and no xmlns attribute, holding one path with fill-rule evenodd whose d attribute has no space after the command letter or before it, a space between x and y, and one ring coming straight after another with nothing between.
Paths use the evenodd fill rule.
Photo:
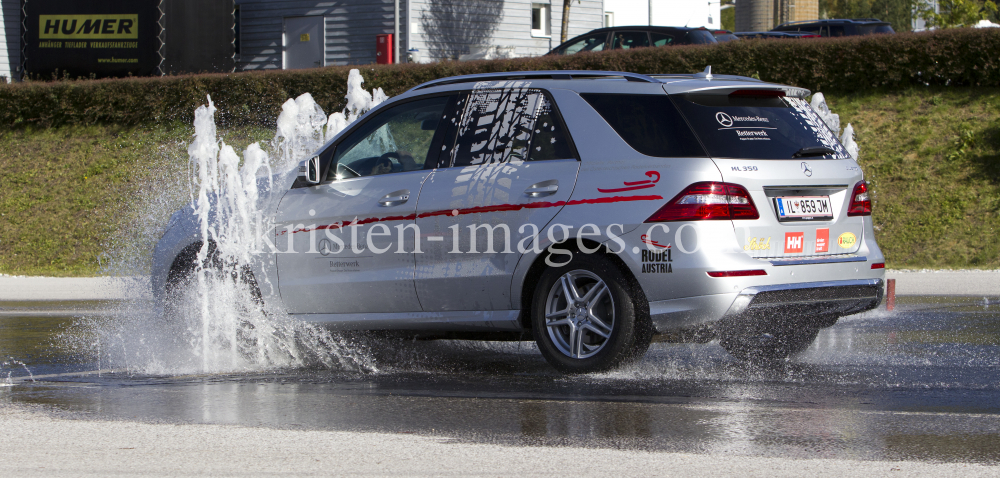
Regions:
<instances>
[{"instance_id":1,"label":"front door window of the silver SUV, nearest the side mirror","mask_svg":"<svg viewBox=\"0 0 1000 478\"><path fill-rule=\"evenodd\" d=\"M437 96L379 113L337 145L327 179L424 169L447 103L447 96Z\"/></svg>"}]
</instances>

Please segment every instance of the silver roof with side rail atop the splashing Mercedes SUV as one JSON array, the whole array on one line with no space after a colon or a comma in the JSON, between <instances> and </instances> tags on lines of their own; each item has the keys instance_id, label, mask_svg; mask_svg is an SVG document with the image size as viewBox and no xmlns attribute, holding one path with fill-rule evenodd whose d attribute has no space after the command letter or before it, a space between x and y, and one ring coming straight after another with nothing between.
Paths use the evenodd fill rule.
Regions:
<instances>
[{"instance_id":1,"label":"silver roof with side rail atop the splashing Mercedes SUV","mask_svg":"<svg viewBox=\"0 0 1000 478\"><path fill-rule=\"evenodd\" d=\"M662 73L643 75L622 71L554 70L481 73L441 78L417 85L407 91L422 94L438 91L460 91L472 88L544 88L576 92L639 93L666 91L668 94L719 92L745 89L780 89L786 96L804 98L809 90L755 78L711 73L711 67L700 73Z\"/></svg>"}]
</instances>

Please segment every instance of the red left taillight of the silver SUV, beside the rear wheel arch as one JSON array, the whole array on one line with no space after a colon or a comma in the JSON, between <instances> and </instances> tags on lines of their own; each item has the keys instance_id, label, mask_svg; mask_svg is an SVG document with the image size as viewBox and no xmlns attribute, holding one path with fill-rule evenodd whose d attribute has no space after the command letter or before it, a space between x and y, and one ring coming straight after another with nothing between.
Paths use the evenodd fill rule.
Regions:
<instances>
[{"instance_id":1,"label":"red left taillight of the silver SUV, beside the rear wheel arch","mask_svg":"<svg viewBox=\"0 0 1000 478\"><path fill-rule=\"evenodd\" d=\"M739 184L694 183L649 216L646 222L758 219L750 193Z\"/></svg>"}]
</instances>

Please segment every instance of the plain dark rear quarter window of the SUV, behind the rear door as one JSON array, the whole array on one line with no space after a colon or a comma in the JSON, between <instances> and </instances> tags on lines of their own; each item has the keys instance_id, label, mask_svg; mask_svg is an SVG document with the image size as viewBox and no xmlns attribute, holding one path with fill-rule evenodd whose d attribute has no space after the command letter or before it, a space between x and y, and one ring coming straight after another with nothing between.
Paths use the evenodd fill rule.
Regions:
<instances>
[{"instance_id":1,"label":"plain dark rear quarter window of the SUV, behind the rear door","mask_svg":"<svg viewBox=\"0 0 1000 478\"><path fill-rule=\"evenodd\" d=\"M647 156L705 157L667 95L582 94L622 139Z\"/></svg>"}]
</instances>

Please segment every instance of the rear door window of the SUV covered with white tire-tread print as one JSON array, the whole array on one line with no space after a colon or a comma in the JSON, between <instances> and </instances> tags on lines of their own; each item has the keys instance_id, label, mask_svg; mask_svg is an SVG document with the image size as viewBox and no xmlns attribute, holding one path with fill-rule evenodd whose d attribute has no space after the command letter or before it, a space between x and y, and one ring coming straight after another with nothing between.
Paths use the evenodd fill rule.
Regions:
<instances>
[{"instance_id":1,"label":"rear door window of the SUV covered with white tire-tread print","mask_svg":"<svg viewBox=\"0 0 1000 478\"><path fill-rule=\"evenodd\" d=\"M469 93L450 151L457 167L575 156L546 95L516 87Z\"/></svg>"}]
</instances>

